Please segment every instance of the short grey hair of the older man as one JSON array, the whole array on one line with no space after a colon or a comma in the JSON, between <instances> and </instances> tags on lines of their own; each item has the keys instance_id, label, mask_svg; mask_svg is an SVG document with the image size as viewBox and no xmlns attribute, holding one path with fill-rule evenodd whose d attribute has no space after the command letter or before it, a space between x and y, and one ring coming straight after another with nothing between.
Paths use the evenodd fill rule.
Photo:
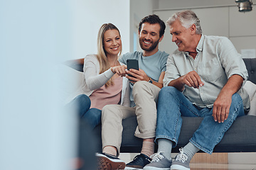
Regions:
<instances>
[{"instance_id":1,"label":"short grey hair of the older man","mask_svg":"<svg viewBox=\"0 0 256 170\"><path fill-rule=\"evenodd\" d=\"M174 13L167 21L168 26L171 26L171 24L176 20L181 21L181 26L185 28L190 28L193 24L195 24L196 34L202 34L200 20L193 11L186 10Z\"/></svg>"}]
</instances>

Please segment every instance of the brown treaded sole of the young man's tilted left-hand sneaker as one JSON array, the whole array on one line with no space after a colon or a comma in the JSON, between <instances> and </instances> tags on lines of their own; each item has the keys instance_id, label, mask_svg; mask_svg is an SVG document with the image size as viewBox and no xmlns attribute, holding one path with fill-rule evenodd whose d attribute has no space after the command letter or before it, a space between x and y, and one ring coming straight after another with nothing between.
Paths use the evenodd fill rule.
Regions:
<instances>
[{"instance_id":1,"label":"brown treaded sole of the young man's tilted left-hand sneaker","mask_svg":"<svg viewBox=\"0 0 256 170\"><path fill-rule=\"evenodd\" d=\"M121 160L113 160L104 155L97 155L97 170L124 169L125 163Z\"/></svg>"}]
</instances>

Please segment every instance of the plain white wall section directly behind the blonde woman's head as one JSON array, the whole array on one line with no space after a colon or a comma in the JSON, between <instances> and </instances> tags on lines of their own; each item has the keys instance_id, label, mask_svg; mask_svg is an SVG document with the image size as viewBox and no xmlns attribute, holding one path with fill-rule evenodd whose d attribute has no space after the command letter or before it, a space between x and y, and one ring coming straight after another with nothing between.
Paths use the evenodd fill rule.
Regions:
<instances>
[{"instance_id":1,"label":"plain white wall section directly behind the blonde woman's head","mask_svg":"<svg viewBox=\"0 0 256 170\"><path fill-rule=\"evenodd\" d=\"M121 33L122 53L129 52L129 0L75 0L71 4L71 59L97 53L97 32L103 23L113 23Z\"/></svg>"}]
</instances>

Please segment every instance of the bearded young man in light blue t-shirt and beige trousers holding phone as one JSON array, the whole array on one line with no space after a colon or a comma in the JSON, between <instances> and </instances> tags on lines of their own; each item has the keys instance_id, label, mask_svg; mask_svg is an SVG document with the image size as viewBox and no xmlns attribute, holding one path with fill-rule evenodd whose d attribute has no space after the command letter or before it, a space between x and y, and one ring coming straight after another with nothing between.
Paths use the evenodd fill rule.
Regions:
<instances>
[{"instance_id":1,"label":"bearded young man in light blue t-shirt and beige trousers holding phone","mask_svg":"<svg viewBox=\"0 0 256 170\"><path fill-rule=\"evenodd\" d=\"M130 80L131 107L109 105L102 109L102 153L97 154L98 169L124 169L125 163L118 159L122 142L122 120L137 116L135 136L142 138L142 151L126 169L142 169L154 154L156 130L156 102L163 87L166 60L169 54L159 51L159 42L164 38L166 26L159 16L146 16L139 23L139 44L143 52L130 52L119 60L127 64L128 59L139 62L139 70L126 70ZM120 71L124 72L124 70Z\"/></svg>"}]
</instances>

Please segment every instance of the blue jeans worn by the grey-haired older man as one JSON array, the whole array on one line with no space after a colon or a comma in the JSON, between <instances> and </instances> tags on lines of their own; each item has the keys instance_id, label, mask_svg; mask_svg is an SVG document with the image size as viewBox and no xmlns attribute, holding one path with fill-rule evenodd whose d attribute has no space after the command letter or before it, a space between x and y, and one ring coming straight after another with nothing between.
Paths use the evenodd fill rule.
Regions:
<instances>
[{"instance_id":1,"label":"blue jeans worn by the grey-haired older man","mask_svg":"<svg viewBox=\"0 0 256 170\"><path fill-rule=\"evenodd\" d=\"M176 147L181 132L181 115L203 117L201 125L189 141L203 152L211 154L235 118L245 115L242 98L238 94L232 96L228 119L224 123L215 122L212 114L213 108L194 106L181 91L172 86L164 87L159 93L157 104L156 140L159 138L171 140L174 143L173 147Z\"/></svg>"}]
</instances>

